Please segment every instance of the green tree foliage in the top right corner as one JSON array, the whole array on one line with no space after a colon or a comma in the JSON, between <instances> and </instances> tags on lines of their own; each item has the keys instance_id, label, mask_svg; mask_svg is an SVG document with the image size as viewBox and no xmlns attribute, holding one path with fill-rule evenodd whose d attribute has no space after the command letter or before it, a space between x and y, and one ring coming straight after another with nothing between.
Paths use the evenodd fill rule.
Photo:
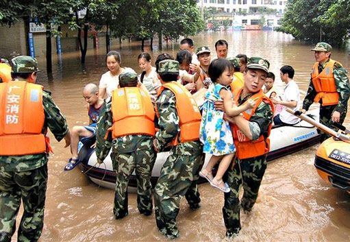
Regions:
<instances>
[{"instance_id":1,"label":"green tree foliage in the top right corner","mask_svg":"<svg viewBox=\"0 0 350 242\"><path fill-rule=\"evenodd\" d=\"M339 45L349 37L349 1L289 0L280 31L299 40Z\"/></svg>"}]
</instances>

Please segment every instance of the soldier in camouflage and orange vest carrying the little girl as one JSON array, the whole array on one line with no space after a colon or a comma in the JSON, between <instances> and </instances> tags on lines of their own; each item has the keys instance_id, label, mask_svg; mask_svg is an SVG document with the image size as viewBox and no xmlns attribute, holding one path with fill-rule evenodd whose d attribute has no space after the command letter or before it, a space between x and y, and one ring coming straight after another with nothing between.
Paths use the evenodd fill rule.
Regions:
<instances>
[{"instance_id":1,"label":"soldier in camouflage and orange vest carrying the little girl","mask_svg":"<svg viewBox=\"0 0 350 242\"><path fill-rule=\"evenodd\" d=\"M268 66L268 62L262 58L250 58L245 73L244 86L236 90L235 101L237 100L238 106L245 103L249 98L255 100L256 96L253 95L264 96L261 88L266 80ZM216 103L217 105L218 103ZM260 104L257 101L255 105L255 112L250 119L246 119L241 115L230 119L233 122L232 125L234 125L232 133L234 134L237 150L234 165L227 169L223 177L223 180L227 182L231 189L229 193L225 193L225 204L223 206L223 219L227 237L234 237L240 231L240 207L245 212L251 211L258 197L258 191L266 169L268 150L266 149L268 147L266 139L273 118L273 104L266 98L262 99ZM237 134L240 137L237 138ZM236 138L238 142L236 142ZM263 144L261 150L254 146L258 141ZM246 143L245 149L242 149L243 143ZM249 158L239 158L242 152ZM254 155L252 156L252 154ZM243 187L244 193L240 202L238 194L241 187Z\"/></svg>"}]
</instances>

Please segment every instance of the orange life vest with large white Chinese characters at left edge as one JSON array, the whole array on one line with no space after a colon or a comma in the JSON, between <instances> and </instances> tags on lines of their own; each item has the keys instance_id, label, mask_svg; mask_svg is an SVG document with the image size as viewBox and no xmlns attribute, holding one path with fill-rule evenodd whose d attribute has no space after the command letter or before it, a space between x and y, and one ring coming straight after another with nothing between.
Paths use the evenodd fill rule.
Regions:
<instances>
[{"instance_id":1,"label":"orange life vest with large white Chinese characters at left edge","mask_svg":"<svg viewBox=\"0 0 350 242\"><path fill-rule=\"evenodd\" d=\"M0 84L0 156L41 154L47 151L42 89L24 81Z\"/></svg>"}]
</instances>

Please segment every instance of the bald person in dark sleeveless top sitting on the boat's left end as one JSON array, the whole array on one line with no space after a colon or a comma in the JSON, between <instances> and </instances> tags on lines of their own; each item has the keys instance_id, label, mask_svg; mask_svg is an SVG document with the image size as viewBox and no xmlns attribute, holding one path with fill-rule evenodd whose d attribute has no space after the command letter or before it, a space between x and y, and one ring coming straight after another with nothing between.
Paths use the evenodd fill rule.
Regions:
<instances>
[{"instance_id":1,"label":"bald person in dark sleeveless top sitting on the boat's left end","mask_svg":"<svg viewBox=\"0 0 350 242\"><path fill-rule=\"evenodd\" d=\"M82 160L78 158L78 143L80 138L94 138L96 134L96 123L99 119L99 112L103 106L103 99L99 98L99 88L95 84L87 84L83 90L83 97L88 103L89 125L74 126L70 130L71 135L71 154L68 163L64 166L64 171L71 171ZM95 145L93 145L95 146Z\"/></svg>"}]
</instances>

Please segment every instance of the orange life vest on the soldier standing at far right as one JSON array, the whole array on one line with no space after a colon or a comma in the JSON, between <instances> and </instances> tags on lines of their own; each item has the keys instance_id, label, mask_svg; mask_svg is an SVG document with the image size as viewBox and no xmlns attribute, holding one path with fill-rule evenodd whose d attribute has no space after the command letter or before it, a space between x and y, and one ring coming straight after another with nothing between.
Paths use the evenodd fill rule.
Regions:
<instances>
[{"instance_id":1,"label":"orange life vest on the soldier standing at far right","mask_svg":"<svg viewBox=\"0 0 350 242\"><path fill-rule=\"evenodd\" d=\"M314 101L318 102L322 99L322 106L338 104L339 93L336 90L336 82L334 81L333 69L335 60L329 59L325 69L318 73L318 62L312 67L312 84L317 92Z\"/></svg>"}]
</instances>

